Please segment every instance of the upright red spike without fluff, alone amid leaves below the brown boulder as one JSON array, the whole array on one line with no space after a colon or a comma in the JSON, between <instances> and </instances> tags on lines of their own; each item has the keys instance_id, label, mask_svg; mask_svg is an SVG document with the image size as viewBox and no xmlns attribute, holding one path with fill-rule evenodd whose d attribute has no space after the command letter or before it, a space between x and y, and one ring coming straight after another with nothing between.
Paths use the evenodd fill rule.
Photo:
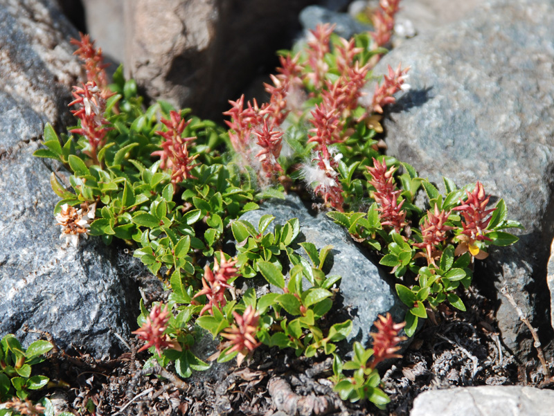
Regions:
<instances>
[{"instance_id":1,"label":"upright red spike without fluff, alone amid leaves below the brown boulder","mask_svg":"<svg viewBox=\"0 0 554 416\"><path fill-rule=\"evenodd\" d=\"M152 152L152 156L160 156L161 169L172 169L172 183L177 184L186 179L196 179L190 171L198 165L198 163L193 164L198 155L190 156L188 152L189 143L194 141L195 137L181 137L184 129L190 124L190 120L186 122L178 111L171 111L170 119L162 118L161 123L166 125L168 130L156 133L165 138L166 141L161 143L161 150Z\"/></svg>"}]
</instances>

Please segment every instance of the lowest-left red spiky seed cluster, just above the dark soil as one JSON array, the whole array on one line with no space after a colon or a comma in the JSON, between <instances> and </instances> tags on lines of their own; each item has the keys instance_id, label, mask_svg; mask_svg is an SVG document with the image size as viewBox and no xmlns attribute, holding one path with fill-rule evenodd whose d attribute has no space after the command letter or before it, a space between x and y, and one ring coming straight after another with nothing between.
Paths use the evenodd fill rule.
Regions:
<instances>
[{"instance_id":1,"label":"lowest-left red spiky seed cluster, just above the dark soil","mask_svg":"<svg viewBox=\"0 0 554 416\"><path fill-rule=\"evenodd\" d=\"M132 332L132 334L136 334L139 338L147 341L139 352L152 347L152 345L156 348L156 352L159 356L161 356L161 350L166 350L168 348L181 351L181 345L179 345L177 341L172 340L167 334L164 334L168 328L168 320L171 311L168 310L168 305L166 305L163 310L161 306L162 304L154 305L150 311L150 316L146 318L146 322L143 326Z\"/></svg>"}]
</instances>

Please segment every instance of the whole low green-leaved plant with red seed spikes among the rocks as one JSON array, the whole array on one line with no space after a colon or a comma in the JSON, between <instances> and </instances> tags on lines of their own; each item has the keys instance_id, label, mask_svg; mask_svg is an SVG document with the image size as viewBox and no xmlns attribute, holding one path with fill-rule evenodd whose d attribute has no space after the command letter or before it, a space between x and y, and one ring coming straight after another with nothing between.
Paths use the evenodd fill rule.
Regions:
<instances>
[{"instance_id":1,"label":"whole low green-leaved plant with red seed spikes among the rocks","mask_svg":"<svg viewBox=\"0 0 554 416\"><path fill-rule=\"evenodd\" d=\"M332 354L339 395L383 407L388 397L375 366L397 356L400 331L411 336L427 308L442 302L464 310L457 293L471 284L474 259L490 245L517 241L503 229L520 225L506 219L502 200L488 207L481 183L457 188L444 179L442 195L411 165L379 153L379 114L395 93L409 89L409 69L401 65L389 68L381 84L371 74L386 53L397 4L381 1L375 19L382 25L373 35L346 40L321 25L304 46L281 53L273 85L266 85L269 101L230 101L229 131L166 102L145 108L121 68L107 85L100 52L88 37L75 41L88 76L73 92L78 125L71 136L57 136L47 125L47 149L35 155L72 173L69 183L51 176L61 198L54 214L62 236L74 245L80 235L106 244L125 240L170 291L150 311L141 301L134 334L146 341L141 350L153 353L145 366L172 365L181 377L206 370L192 348L202 328L223 338L211 357L220 362L236 357L240 364L260 345L292 348L298 356ZM302 252L294 251L301 233L296 218L238 219L286 192L311 195L398 279L406 323L379 317L373 348L355 343L346 363L336 343L352 322L321 320L341 280L324 272L332 247L301 242ZM425 210L414 204L424 192ZM234 248L223 244L230 237ZM256 276L276 291L257 296ZM239 291L237 281L249 289Z\"/></svg>"}]
</instances>

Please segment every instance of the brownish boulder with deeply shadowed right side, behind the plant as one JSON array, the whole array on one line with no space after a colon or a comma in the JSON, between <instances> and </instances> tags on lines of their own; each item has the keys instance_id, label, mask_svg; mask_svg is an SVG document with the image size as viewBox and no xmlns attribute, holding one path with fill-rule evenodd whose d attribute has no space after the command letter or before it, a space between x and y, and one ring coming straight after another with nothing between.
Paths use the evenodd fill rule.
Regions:
<instances>
[{"instance_id":1,"label":"brownish boulder with deeply shadowed right side, behind the plant","mask_svg":"<svg viewBox=\"0 0 554 416\"><path fill-rule=\"evenodd\" d=\"M221 118L313 0L125 0L125 69L150 97Z\"/></svg>"}]
</instances>

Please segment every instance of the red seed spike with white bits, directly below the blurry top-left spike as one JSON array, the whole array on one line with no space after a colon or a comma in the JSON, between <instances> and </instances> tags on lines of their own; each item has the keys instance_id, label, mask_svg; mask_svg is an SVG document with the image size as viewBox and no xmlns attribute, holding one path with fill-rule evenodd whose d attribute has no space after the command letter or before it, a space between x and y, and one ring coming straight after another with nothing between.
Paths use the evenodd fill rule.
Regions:
<instances>
[{"instance_id":1,"label":"red seed spike with white bits, directly below the blurry top-left spike","mask_svg":"<svg viewBox=\"0 0 554 416\"><path fill-rule=\"evenodd\" d=\"M102 93L96 82L89 81L81 87L73 87L75 100L69 103L78 105L78 109L71 110L73 116L79 118L81 127L71 130L71 133L81 134L89 140L90 149L84 151L92 160L98 164L97 152L106 144L106 134L113 127L109 125L104 117L106 110L106 96Z\"/></svg>"}]
</instances>

